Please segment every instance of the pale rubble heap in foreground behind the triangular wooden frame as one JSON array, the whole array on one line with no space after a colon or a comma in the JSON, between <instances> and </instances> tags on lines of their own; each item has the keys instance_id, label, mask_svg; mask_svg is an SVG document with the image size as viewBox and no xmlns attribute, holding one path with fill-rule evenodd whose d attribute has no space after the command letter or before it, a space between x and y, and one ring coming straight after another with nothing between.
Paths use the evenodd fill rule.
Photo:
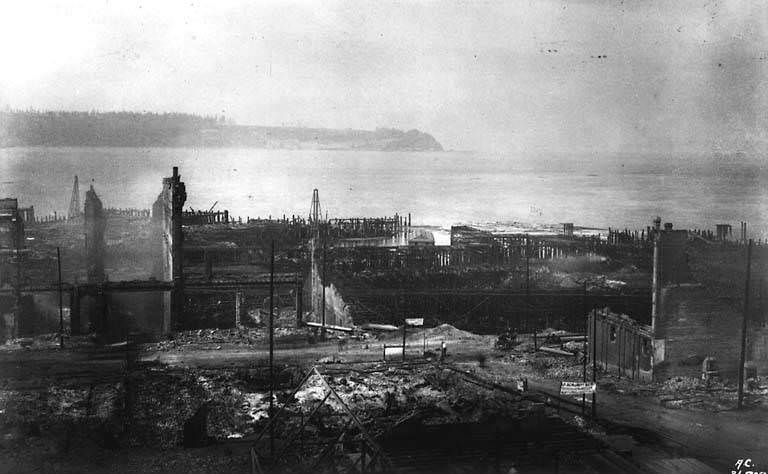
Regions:
<instances>
[{"instance_id":1,"label":"pale rubble heap in foreground behind the triangular wooden frame","mask_svg":"<svg viewBox=\"0 0 768 474\"><path fill-rule=\"evenodd\" d=\"M330 396L331 387L338 395ZM478 389L455 370L433 365L373 366L313 373L288 399L278 395L284 413L277 431L317 437L345 429L352 413L374 438L403 424L439 425L516 417L531 402L509 393ZM324 402L319 409L320 402ZM307 417L313 422L307 423ZM303 432L302 432L303 430ZM303 433L303 434L302 434ZM282 435L281 435L282 436ZM299 444L299 443L297 443ZM295 446L298 448L298 446ZM311 456L292 449L300 458Z\"/></svg>"}]
</instances>

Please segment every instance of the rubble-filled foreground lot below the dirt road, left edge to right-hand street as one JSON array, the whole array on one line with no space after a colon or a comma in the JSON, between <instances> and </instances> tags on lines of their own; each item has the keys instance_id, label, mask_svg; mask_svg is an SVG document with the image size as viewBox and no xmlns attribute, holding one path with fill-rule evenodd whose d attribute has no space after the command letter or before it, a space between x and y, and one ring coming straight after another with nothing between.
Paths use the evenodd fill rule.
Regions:
<instances>
[{"instance_id":1,"label":"rubble-filled foreground lot below the dirt road, left edge to right-hand street","mask_svg":"<svg viewBox=\"0 0 768 474\"><path fill-rule=\"evenodd\" d=\"M306 416L324 396L321 382L311 377L290 397L305 369L278 368L276 410L291 405ZM428 423L477 421L524 409L520 400L512 400L517 405L510 404L509 395L476 390L462 383L455 372L431 364L333 364L324 370L325 379L341 400L375 436L405 419L428 418ZM94 462L105 463L102 467L109 470L111 464L103 453L125 459L133 456L127 453L148 456L147 450L155 450L159 456L166 452L179 454L185 445L248 439L267 425L268 385L265 367L201 370L150 365L135 368L117 382L64 386L48 381L37 390L6 388L0 390L0 454L17 471L76 471L73 466L98 469L98 465L78 457L87 449L96 453ZM319 424L307 429L332 429L333 423L339 422L331 416L333 413L341 413L341 407L329 402L328 410L320 412L324 416ZM199 423L201 416L205 434L202 439L190 439L190 426ZM297 423L295 418L292 420ZM187 457L205 457L209 451L188 450ZM235 451L233 459L241 455ZM311 457L313 452L308 448L306 456ZM175 457L170 454L167 461ZM134 461L124 462L131 465ZM175 467L169 467L155 460L148 463L148 470L175 470L187 461L174 462ZM242 462L247 465L247 458Z\"/></svg>"}]
</instances>

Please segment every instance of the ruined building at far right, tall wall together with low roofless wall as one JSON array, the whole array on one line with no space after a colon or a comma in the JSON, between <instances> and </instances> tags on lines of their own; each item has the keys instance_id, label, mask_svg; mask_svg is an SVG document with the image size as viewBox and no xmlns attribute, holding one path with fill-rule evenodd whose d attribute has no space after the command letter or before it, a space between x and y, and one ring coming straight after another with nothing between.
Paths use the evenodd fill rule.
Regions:
<instances>
[{"instance_id":1,"label":"ruined building at far right, tall wall together with low roofless wall","mask_svg":"<svg viewBox=\"0 0 768 474\"><path fill-rule=\"evenodd\" d=\"M745 233L742 224L742 237L734 240L729 225L718 225L716 236L702 237L670 223L662 228L657 218L649 229L654 240L651 325L607 308L590 314L588 335L595 341L598 365L619 376L665 380L699 377L709 358L723 377L735 378L744 318ZM751 262L746 361L764 374L768 314L761 275L768 269L768 247L755 246Z\"/></svg>"}]
</instances>

